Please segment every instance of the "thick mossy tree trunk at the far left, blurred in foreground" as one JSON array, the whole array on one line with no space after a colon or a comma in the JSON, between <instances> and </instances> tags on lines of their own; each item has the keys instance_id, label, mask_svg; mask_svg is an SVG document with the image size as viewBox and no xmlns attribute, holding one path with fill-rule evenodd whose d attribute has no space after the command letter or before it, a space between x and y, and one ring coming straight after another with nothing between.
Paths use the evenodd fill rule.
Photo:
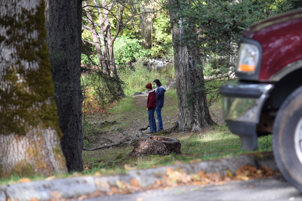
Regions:
<instances>
[{"instance_id":1,"label":"thick mossy tree trunk at the far left, blurred in foreground","mask_svg":"<svg viewBox=\"0 0 302 201\"><path fill-rule=\"evenodd\" d=\"M44 8L43 0L0 0L0 177L67 171Z\"/></svg>"}]
</instances>

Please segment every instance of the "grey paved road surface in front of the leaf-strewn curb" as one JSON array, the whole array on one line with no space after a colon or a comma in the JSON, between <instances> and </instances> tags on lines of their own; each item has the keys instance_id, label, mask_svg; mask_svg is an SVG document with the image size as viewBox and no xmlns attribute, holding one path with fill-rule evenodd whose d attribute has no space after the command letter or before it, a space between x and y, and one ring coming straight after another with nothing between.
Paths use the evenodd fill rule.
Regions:
<instances>
[{"instance_id":1,"label":"grey paved road surface in front of the leaf-strewn curb","mask_svg":"<svg viewBox=\"0 0 302 201\"><path fill-rule=\"evenodd\" d=\"M183 186L83 201L302 201L301 194L282 177L236 181L224 185Z\"/></svg>"}]
</instances>

